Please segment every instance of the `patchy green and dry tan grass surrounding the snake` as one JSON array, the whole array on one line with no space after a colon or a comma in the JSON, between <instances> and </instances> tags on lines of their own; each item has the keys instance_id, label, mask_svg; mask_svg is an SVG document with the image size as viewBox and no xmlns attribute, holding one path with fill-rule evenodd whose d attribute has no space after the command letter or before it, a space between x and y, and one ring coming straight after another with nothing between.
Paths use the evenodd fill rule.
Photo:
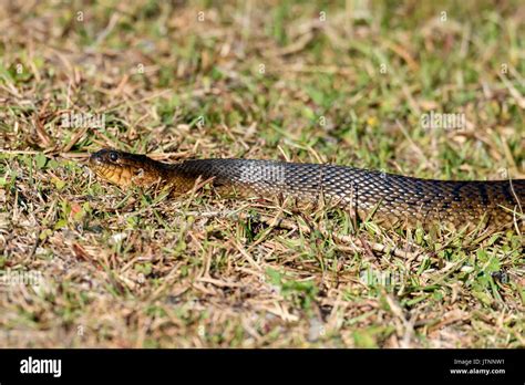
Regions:
<instances>
[{"instance_id":1,"label":"patchy green and dry tan grass surrounding the snake","mask_svg":"<svg viewBox=\"0 0 525 385\"><path fill-rule=\"evenodd\" d=\"M519 1L0 12L2 346L524 346L516 231L385 231L209 189L173 200L83 163L116 147L523 178ZM430 112L465 126L423 128Z\"/></svg>"}]
</instances>

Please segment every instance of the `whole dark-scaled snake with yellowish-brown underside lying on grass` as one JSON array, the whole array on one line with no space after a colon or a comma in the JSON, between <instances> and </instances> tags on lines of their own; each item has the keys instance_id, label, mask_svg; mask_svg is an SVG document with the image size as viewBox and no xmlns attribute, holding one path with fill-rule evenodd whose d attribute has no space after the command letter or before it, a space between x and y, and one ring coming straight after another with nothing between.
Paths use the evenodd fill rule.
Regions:
<instances>
[{"instance_id":1,"label":"whole dark-scaled snake with yellowish-brown underside lying on grass","mask_svg":"<svg viewBox=\"0 0 525 385\"><path fill-rule=\"evenodd\" d=\"M209 181L244 196L322 200L387 228L525 229L525 179L435 180L332 164L243 158L167 164L112 148L93 153L89 166L124 189L157 186L176 195L191 191L199 180Z\"/></svg>"}]
</instances>

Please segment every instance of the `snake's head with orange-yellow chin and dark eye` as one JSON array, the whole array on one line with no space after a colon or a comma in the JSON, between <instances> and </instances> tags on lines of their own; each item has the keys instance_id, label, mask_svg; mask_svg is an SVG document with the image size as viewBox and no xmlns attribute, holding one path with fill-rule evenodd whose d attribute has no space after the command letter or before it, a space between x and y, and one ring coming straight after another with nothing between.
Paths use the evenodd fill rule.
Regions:
<instances>
[{"instance_id":1,"label":"snake's head with orange-yellow chin and dark eye","mask_svg":"<svg viewBox=\"0 0 525 385\"><path fill-rule=\"evenodd\" d=\"M104 148L92 154L89 166L100 178L120 187L150 187L165 177L157 162L116 149Z\"/></svg>"}]
</instances>

